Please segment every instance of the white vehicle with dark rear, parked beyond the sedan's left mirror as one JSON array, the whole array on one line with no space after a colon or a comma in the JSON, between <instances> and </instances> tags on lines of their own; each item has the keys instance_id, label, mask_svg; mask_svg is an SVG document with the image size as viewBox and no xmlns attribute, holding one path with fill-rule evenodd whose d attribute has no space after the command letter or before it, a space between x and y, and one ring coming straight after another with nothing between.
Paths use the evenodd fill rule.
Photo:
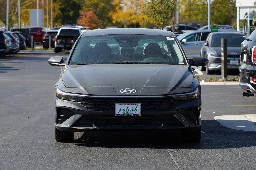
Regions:
<instances>
[{"instance_id":1,"label":"white vehicle with dark rear, parked beyond the sedan's left mirror","mask_svg":"<svg viewBox=\"0 0 256 170\"><path fill-rule=\"evenodd\" d=\"M81 33L80 28L60 28L55 36L55 53L62 51L63 48L70 50Z\"/></svg>"}]
</instances>

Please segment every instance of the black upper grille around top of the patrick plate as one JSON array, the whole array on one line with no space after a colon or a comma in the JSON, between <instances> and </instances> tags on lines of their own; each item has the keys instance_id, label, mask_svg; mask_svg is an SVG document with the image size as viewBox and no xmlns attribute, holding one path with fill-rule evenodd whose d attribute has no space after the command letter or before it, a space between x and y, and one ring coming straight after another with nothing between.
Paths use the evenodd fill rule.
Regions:
<instances>
[{"instance_id":1,"label":"black upper grille around top of the patrick plate","mask_svg":"<svg viewBox=\"0 0 256 170\"><path fill-rule=\"evenodd\" d=\"M115 103L141 103L144 111L167 110L177 103L172 97L161 98L94 98L86 97L79 101L89 110L114 111Z\"/></svg>"}]
</instances>

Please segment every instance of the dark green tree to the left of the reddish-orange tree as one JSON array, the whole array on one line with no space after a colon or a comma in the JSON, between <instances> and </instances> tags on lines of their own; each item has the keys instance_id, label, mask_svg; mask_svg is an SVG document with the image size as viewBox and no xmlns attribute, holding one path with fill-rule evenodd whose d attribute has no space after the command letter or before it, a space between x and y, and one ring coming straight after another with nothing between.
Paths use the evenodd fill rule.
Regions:
<instances>
[{"instance_id":1,"label":"dark green tree to the left of the reddish-orange tree","mask_svg":"<svg viewBox=\"0 0 256 170\"><path fill-rule=\"evenodd\" d=\"M80 10L82 9L81 0L55 0L59 4L59 13L55 21L60 24L73 24L76 23L80 17Z\"/></svg>"}]
</instances>

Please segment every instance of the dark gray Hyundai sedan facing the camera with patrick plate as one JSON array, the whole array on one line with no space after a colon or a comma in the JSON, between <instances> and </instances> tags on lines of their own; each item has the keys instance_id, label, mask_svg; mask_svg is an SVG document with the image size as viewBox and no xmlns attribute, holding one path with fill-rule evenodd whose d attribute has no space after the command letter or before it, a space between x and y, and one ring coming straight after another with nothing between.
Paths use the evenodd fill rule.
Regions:
<instances>
[{"instance_id":1,"label":"dark gray Hyundai sedan facing the camera with patrick plate","mask_svg":"<svg viewBox=\"0 0 256 170\"><path fill-rule=\"evenodd\" d=\"M156 29L85 31L62 66L55 86L55 137L70 142L74 132L100 130L180 131L201 138L201 89L194 66L176 36Z\"/></svg>"}]
</instances>

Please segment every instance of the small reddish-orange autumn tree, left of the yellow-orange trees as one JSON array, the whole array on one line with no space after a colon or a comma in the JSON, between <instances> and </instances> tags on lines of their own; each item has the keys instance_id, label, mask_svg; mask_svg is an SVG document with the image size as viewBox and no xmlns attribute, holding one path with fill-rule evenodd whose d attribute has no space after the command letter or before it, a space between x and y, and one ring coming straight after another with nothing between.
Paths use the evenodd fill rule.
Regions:
<instances>
[{"instance_id":1,"label":"small reddish-orange autumn tree, left of the yellow-orange trees","mask_svg":"<svg viewBox=\"0 0 256 170\"><path fill-rule=\"evenodd\" d=\"M93 11L82 11L77 23L82 24L84 27L89 27L90 29L97 29L100 27L99 19Z\"/></svg>"}]
</instances>

